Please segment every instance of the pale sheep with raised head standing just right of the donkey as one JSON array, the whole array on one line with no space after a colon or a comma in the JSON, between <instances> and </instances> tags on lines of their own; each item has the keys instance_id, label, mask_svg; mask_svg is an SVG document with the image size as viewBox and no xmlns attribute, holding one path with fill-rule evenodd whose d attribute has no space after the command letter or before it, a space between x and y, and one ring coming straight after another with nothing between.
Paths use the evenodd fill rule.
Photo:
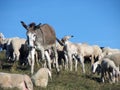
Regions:
<instances>
[{"instance_id":1,"label":"pale sheep with raised head standing just right of the donkey","mask_svg":"<svg viewBox=\"0 0 120 90\"><path fill-rule=\"evenodd\" d=\"M68 41L71 37L73 36L65 36L63 37L61 40L57 39L57 41L60 43L60 45L63 46L63 51L64 51L64 57L65 57L65 61L66 61L66 65L65 67L68 68L68 63L70 64L70 71L72 71L72 63L73 63L73 59L75 61L75 71L77 71L77 62L78 62L78 45L80 43L72 43L70 41ZM83 72L85 72L84 69L84 62L83 59L80 59L81 63L82 63L82 69Z\"/></svg>"}]
</instances>

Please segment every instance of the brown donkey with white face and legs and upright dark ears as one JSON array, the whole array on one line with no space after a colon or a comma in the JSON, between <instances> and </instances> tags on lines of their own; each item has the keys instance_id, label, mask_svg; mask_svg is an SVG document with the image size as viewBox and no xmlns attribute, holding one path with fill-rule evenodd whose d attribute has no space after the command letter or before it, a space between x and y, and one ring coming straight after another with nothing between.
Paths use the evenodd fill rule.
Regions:
<instances>
[{"instance_id":1,"label":"brown donkey with white face and legs and upright dark ears","mask_svg":"<svg viewBox=\"0 0 120 90\"><path fill-rule=\"evenodd\" d=\"M21 21L22 26L27 30L27 41L29 45L29 56L31 56L31 74L34 72L34 54L35 50L40 51L42 60L46 58L49 60L47 50L52 49L55 55L56 69L59 72L58 56L56 49L56 34L54 29L48 24L31 23L28 26ZM49 62L50 64L50 62Z\"/></svg>"}]
</instances>

